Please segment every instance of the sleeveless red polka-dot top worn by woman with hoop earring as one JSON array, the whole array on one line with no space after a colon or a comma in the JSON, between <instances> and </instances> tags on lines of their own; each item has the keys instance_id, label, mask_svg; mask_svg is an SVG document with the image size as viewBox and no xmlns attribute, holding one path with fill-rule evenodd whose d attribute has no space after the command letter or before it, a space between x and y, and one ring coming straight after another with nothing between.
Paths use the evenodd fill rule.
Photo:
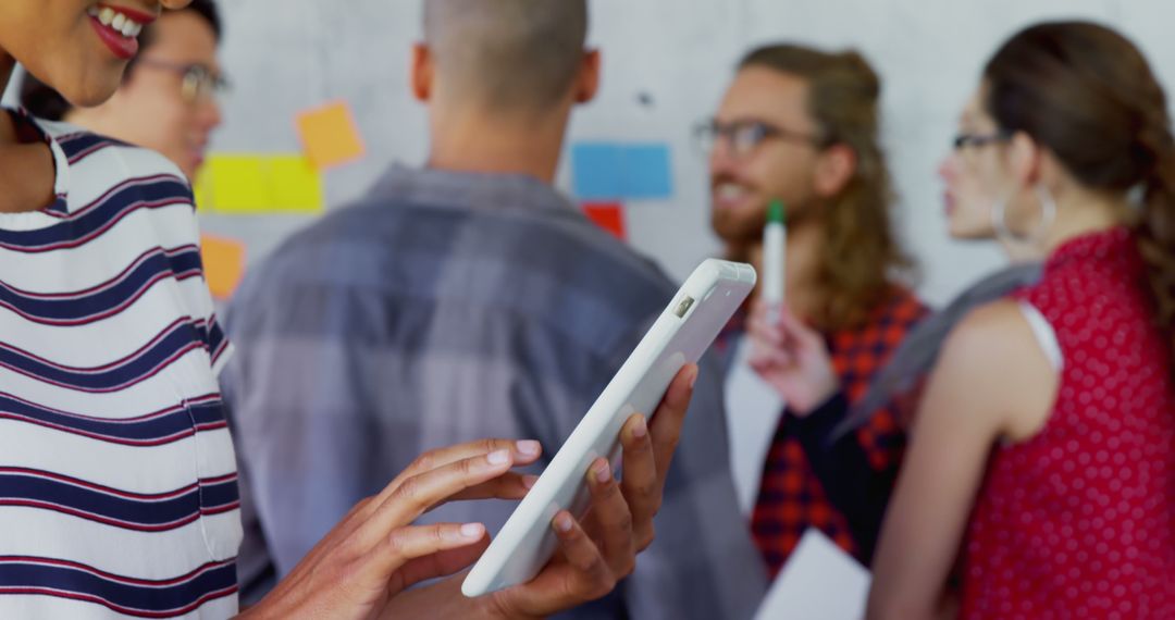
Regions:
<instances>
[{"instance_id":1,"label":"sleeveless red polka-dot top worn by woman with hoop earring","mask_svg":"<svg viewBox=\"0 0 1175 620\"><path fill-rule=\"evenodd\" d=\"M1175 389L1127 229L1080 237L1019 297L1061 351L1053 413L996 447L965 545L962 616L1175 619Z\"/></svg>"}]
</instances>

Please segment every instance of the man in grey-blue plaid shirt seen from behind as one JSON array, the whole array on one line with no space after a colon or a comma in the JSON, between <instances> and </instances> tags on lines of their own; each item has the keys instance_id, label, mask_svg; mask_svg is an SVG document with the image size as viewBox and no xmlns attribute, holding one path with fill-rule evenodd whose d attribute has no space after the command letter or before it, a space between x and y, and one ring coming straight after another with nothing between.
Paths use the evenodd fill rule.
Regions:
<instances>
[{"instance_id":1,"label":"man in grey-blue plaid shirt seen from behind","mask_svg":"<svg viewBox=\"0 0 1175 620\"><path fill-rule=\"evenodd\" d=\"M428 0L414 89L423 170L391 168L296 235L227 316L240 446L242 599L431 447L533 438L543 465L676 287L551 187L571 108L596 92L585 0ZM611 595L572 618L748 618L766 589L728 471L721 377L703 360L656 518ZM432 521L497 531L512 504Z\"/></svg>"}]
</instances>

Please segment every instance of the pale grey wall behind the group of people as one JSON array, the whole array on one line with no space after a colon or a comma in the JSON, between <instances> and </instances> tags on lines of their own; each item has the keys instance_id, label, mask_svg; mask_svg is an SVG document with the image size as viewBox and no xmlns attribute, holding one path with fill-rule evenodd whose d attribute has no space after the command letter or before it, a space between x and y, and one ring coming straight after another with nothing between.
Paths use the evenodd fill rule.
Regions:
<instances>
[{"instance_id":1,"label":"pale grey wall behind the group of people","mask_svg":"<svg viewBox=\"0 0 1175 620\"><path fill-rule=\"evenodd\" d=\"M552 0L555 1L555 0ZM327 174L333 205L361 195L391 162L427 155L427 116L408 89L421 0L221 0L223 65L234 82L214 151L295 151L295 115L350 102L368 154ZM992 244L945 234L939 160L979 69L1015 29L1041 19L1087 18L1139 42L1175 83L1175 4L1161 0L591 0L591 42L603 87L573 116L579 140L666 142L671 200L629 203L632 244L677 278L717 251L709 230L705 157L691 128L711 114L748 47L792 40L861 49L884 79L885 144L900 194L904 240L921 261L920 292L941 303L1002 262ZM566 160L566 157L565 157ZM564 161L560 186L570 189ZM207 231L247 242L250 262L304 216L203 217Z\"/></svg>"}]
</instances>

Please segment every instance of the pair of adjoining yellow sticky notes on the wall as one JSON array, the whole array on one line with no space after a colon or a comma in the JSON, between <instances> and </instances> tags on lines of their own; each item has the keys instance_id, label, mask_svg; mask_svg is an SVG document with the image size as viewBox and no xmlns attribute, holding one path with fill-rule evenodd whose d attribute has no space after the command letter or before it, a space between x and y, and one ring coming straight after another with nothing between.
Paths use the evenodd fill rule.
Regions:
<instances>
[{"instance_id":1,"label":"pair of adjoining yellow sticky notes on the wall","mask_svg":"<svg viewBox=\"0 0 1175 620\"><path fill-rule=\"evenodd\" d=\"M226 215L318 213L322 176L302 155L214 154L197 182L197 203Z\"/></svg>"}]
</instances>

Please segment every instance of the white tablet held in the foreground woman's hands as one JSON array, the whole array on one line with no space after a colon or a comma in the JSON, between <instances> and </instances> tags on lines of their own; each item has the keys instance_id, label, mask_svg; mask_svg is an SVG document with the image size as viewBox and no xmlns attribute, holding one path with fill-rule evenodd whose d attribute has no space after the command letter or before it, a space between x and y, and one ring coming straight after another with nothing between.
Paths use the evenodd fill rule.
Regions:
<instances>
[{"instance_id":1,"label":"white tablet held in the foreground woman's hands","mask_svg":"<svg viewBox=\"0 0 1175 620\"><path fill-rule=\"evenodd\" d=\"M591 463L616 459L624 423L633 413L654 412L673 377L698 362L754 281L745 263L709 260L693 271L465 577L462 593L479 597L538 574L558 547L551 531L556 513L566 508L582 517L589 505Z\"/></svg>"}]
</instances>

